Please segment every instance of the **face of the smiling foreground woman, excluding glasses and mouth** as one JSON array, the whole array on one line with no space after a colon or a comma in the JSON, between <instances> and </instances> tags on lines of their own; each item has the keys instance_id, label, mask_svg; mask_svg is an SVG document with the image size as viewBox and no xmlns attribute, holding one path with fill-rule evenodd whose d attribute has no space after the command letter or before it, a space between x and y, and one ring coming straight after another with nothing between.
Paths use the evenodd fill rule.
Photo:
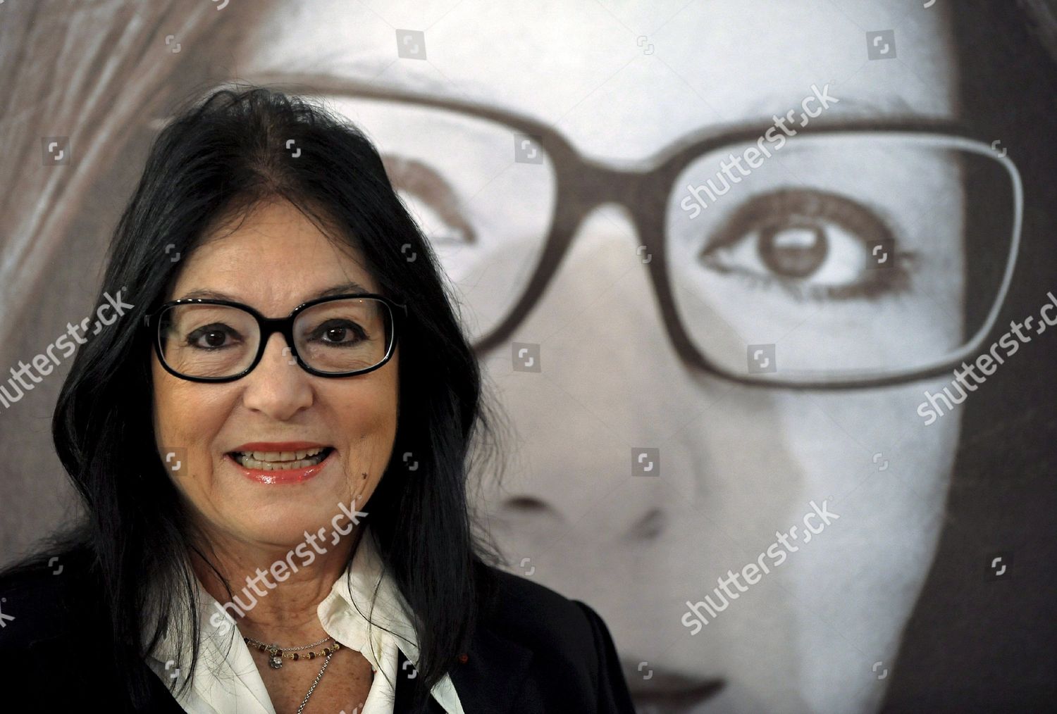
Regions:
<instances>
[{"instance_id":1,"label":"face of the smiling foreground woman, excluding glasses and mouth","mask_svg":"<svg viewBox=\"0 0 1057 714\"><path fill-rule=\"evenodd\" d=\"M350 282L378 292L354 249L339 250L289 203L261 205L233 232L218 234L185 258L169 300L208 292L278 318ZM365 504L389 462L397 355L373 372L329 378L309 374L290 354L282 335L274 334L253 372L223 383L180 379L153 357L159 450L163 459L180 450L185 463L172 478L221 544L285 552L305 531L326 526L329 532L344 512L339 504L370 511ZM261 441L308 441L334 452L305 481L248 477L229 452ZM347 518L337 524L342 531Z\"/></svg>"}]
</instances>

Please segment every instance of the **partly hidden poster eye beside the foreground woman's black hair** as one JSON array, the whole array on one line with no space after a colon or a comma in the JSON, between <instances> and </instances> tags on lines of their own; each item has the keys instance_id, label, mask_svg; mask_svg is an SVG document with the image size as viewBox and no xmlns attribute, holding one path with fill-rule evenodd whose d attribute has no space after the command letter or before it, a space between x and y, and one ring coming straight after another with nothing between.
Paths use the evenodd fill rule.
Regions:
<instances>
[{"instance_id":1,"label":"partly hidden poster eye beside the foreground woman's black hair","mask_svg":"<svg viewBox=\"0 0 1057 714\"><path fill-rule=\"evenodd\" d=\"M477 242L459 195L444 176L416 158L386 154L382 161L393 187L430 242Z\"/></svg>"}]
</instances>

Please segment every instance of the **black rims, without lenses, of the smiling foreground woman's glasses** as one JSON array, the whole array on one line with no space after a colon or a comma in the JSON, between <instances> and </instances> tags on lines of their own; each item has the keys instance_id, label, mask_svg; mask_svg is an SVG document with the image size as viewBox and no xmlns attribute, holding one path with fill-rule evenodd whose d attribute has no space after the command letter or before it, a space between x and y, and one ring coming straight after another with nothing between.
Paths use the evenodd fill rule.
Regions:
<instances>
[{"instance_id":1,"label":"black rims, without lenses, of the smiling foreground woman's glasses","mask_svg":"<svg viewBox=\"0 0 1057 714\"><path fill-rule=\"evenodd\" d=\"M386 345L385 357L382 358L377 364L369 367L365 370L353 370L351 372L320 372L312 367L310 367L297 353L296 340L294 339L294 321L297 316L309 307L314 307L315 305L324 302L335 302L337 300L348 300L350 298L371 298L377 300L386 305L391 316L392 332L389 335L389 343ZM154 353L157 355L157 361L161 362L162 367L166 372L171 374L173 377L179 377L180 379L186 379L187 381L194 382L230 382L237 379L245 377L247 374L254 371L254 369L260 363L261 358L264 356L264 351L267 349L268 340L272 339L272 335L279 333L283 336L286 341L286 347L290 350L290 354L297 360L297 363L302 370L316 377L329 377L329 378L340 378L340 377L354 377L360 374L367 374L368 372L373 372L382 367L384 367L396 352L396 343L400 339L400 331L404 325L404 321L408 318L409 312L408 306L405 303L398 303L394 300L390 300L384 295L378 295L377 293L347 293L342 295L328 296L324 298L316 298L314 300L309 300L308 302L302 302L297 307L293 309L286 317L268 318L264 317L259 311L255 309L251 305L246 305L241 302L236 302L234 300L215 300L210 298L184 298L181 300L170 300L169 302L160 305L156 309L151 311L143 318L143 326L145 328L150 328L150 323L163 315L167 309L175 307L178 305L222 305L226 307L237 307L248 313L255 320L257 320L257 331L260 336L260 342L257 345L257 355L254 357L254 361L251 362L249 367L240 372L239 374L229 377L192 377L189 375L182 374L171 368L168 362L165 361L165 355L162 351L162 321L159 319L155 324L156 328L153 331ZM398 311L396 308L400 308Z\"/></svg>"}]
</instances>

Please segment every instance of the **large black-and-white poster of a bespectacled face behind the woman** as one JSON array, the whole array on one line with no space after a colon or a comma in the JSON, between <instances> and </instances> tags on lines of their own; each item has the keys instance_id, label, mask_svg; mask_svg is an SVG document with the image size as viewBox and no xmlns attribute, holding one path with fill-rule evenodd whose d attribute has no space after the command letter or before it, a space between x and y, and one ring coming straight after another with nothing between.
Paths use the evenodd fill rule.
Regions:
<instances>
[{"instance_id":1,"label":"large black-and-white poster of a bespectacled face behind the woman","mask_svg":"<svg viewBox=\"0 0 1057 714\"><path fill-rule=\"evenodd\" d=\"M0 4L5 560L74 503L64 364L16 373L94 309L169 112L262 84L383 154L507 427L481 528L597 609L639 711L1041 711L1055 13Z\"/></svg>"}]
</instances>

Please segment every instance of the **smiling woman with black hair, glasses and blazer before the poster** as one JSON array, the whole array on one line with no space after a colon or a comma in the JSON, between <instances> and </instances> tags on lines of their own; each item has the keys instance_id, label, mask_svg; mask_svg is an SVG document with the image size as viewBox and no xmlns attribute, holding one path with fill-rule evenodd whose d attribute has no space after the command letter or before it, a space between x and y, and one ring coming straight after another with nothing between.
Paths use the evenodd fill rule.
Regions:
<instances>
[{"instance_id":1,"label":"smiling woman with black hair, glasses and blazer before the poster","mask_svg":"<svg viewBox=\"0 0 1057 714\"><path fill-rule=\"evenodd\" d=\"M104 294L127 311L87 336L54 418L86 516L2 582L20 692L632 711L597 614L496 569L472 532L477 362L358 130L263 89L188 108L152 147Z\"/></svg>"}]
</instances>

